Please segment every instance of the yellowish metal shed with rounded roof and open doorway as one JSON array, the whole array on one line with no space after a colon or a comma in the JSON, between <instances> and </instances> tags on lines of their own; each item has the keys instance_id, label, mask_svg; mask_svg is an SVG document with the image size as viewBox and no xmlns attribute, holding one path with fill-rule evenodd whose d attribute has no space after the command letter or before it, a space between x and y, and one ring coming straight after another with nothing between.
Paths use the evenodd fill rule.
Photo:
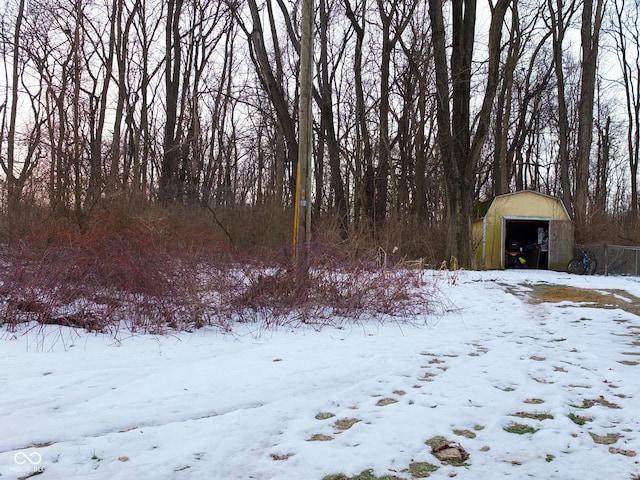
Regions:
<instances>
[{"instance_id":1,"label":"yellowish metal shed with rounded roof and open doorway","mask_svg":"<svg viewBox=\"0 0 640 480\"><path fill-rule=\"evenodd\" d=\"M493 199L473 224L476 267L565 271L573 256L573 222L562 200L525 190ZM519 249L521 263L510 262Z\"/></svg>"}]
</instances>

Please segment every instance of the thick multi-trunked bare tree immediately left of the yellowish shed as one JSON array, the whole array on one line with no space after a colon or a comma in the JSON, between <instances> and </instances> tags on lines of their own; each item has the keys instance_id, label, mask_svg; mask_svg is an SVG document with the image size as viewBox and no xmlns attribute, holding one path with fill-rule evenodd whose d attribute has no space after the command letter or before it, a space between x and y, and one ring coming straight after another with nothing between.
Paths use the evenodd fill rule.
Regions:
<instances>
[{"instance_id":1,"label":"thick multi-trunked bare tree immediately left of the yellowish shed","mask_svg":"<svg viewBox=\"0 0 640 480\"><path fill-rule=\"evenodd\" d=\"M451 77L442 2L429 0L438 105L438 146L444 165L447 194L447 256L455 257L464 267L471 266L471 219L476 171L488 134L498 85L502 22L509 4L510 0L498 0L491 9L486 89L474 122L476 127L472 139L470 101L476 0L453 0L451 5Z\"/></svg>"}]
</instances>

